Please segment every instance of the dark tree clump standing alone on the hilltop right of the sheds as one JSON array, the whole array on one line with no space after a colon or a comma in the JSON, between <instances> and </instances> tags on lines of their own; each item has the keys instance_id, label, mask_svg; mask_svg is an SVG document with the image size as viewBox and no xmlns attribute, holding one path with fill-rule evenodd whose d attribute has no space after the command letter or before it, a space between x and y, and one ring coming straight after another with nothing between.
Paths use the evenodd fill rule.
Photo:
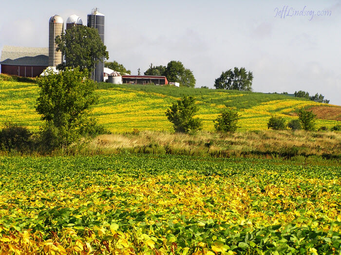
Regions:
<instances>
[{"instance_id":1,"label":"dark tree clump standing alone on the hilltop right of the sheds","mask_svg":"<svg viewBox=\"0 0 341 255\"><path fill-rule=\"evenodd\" d=\"M214 87L216 89L252 91L252 72L246 72L244 67L240 69L235 67L234 70L229 69L222 72L219 78L215 79Z\"/></svg>"}]
</instances>

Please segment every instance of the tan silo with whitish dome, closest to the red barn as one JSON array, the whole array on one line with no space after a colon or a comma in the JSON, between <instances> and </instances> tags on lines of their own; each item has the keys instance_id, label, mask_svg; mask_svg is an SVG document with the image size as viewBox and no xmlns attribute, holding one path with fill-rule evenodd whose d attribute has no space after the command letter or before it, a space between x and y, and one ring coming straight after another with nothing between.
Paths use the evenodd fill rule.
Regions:
<instances>
[{"instance_id":1,"label":"tan silo with whitish dome, closest to the red barn","mask_svg":"<svg viewBox=\"0 0 341 255\"><path fill-rule=\"evenodd\" d=\"M63 55L57 52L56 36L60 36L64 30L64 20L54 15L49 21L49 66L57 66L63 62Z\"/></svg>"}]
</instances>

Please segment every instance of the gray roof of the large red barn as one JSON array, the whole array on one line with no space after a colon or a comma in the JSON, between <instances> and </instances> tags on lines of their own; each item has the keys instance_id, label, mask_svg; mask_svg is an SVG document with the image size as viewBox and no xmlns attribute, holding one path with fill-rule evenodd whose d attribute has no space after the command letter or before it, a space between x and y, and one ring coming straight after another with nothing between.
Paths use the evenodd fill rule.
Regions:
<instances>
[{"instance_id":1,"label":"gray roof of the large red barn","mask_svg":"<svg viewBox=\"0 0 341 255\"><path fill-rule=\"evenodd\" d=\"M17 47L5 45L2 48L0 64L48 66L49 48Z\"/></svg>"}]
</instances>

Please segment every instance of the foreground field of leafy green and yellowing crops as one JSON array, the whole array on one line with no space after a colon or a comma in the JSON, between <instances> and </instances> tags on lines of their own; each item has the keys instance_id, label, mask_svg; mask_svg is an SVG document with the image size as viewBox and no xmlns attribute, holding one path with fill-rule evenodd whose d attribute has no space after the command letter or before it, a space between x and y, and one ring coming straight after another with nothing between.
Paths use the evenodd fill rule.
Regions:
<instances>
[{"instance_id":1,"label":"foreground field of leafy green and yellowing crops","mask_svg":"<svg viewBox=\"0 0 341 255\"><path fill-rule=\"evenodd\" d=\"M0 254L341 254L341 167L0 157Z\"/></svg>"}]
</instances>

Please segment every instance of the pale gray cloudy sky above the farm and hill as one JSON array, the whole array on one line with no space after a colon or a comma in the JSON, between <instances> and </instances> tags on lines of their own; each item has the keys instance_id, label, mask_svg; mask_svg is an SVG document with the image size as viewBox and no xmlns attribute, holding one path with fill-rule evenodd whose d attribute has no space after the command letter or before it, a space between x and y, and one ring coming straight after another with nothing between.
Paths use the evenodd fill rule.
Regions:
<instances>
[{"instance_id":1,"label":"pale gray cloudy sky above the farm and hill","mask_svg":"<svg viewBox=\"0 0 341 255\"><path fill-rule=\"evenodd\" d=\"M341 0L1 0L4 45L48 47L48 21L105 15L109 61L132 74L181 61L195 87L245 67L257 92L303 90L341 105ZM66 24L64 23L64 26Z\"/></svg>"}]
</instances>

